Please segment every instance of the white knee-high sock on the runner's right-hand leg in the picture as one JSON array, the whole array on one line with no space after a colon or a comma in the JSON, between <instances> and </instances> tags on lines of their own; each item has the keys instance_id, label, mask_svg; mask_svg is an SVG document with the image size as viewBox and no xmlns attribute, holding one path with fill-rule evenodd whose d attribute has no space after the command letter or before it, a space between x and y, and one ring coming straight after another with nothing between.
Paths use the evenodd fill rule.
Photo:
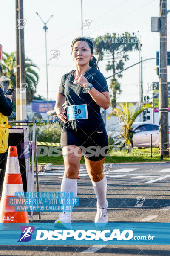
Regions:
<instances>
[{"instance_id":1,"label":"white knee-high sock on the runner's right-hand leg in the picture","mask_svg":"<svg viewBox=\"0 0 170 256\"><path fill-rule=\"evenodd\" d=\"M106 205L106 192L107 192L107 179L106 176L100 181L92 181L94 192L100 207L105 207Z\"/></svg>"}]
</instances>

